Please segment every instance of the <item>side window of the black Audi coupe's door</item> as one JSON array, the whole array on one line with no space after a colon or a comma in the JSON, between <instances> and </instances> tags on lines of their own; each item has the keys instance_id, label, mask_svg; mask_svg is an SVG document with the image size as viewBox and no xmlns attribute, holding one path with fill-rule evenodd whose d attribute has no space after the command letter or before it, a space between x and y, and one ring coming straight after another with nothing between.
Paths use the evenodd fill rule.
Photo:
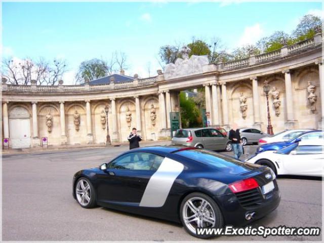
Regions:
<instances>
[{"instance_id":1,"label":"side window of the black Audi coupe's door","mask_svg":"<svg viewBox=\"0 0 324 243\"><path fill-rule=\"evenodd\" d=\"M164 157L152 153L128 153L108 164L108 169L120 170L157 170Z\"/></svg>"}]
</instances>

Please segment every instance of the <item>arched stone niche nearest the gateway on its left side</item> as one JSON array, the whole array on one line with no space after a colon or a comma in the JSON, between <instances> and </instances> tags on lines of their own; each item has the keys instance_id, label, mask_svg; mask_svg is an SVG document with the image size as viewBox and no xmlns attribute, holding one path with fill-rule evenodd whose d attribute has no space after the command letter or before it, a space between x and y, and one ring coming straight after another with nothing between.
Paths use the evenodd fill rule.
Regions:
<instances>
[{"instance_id":1,"label":"arched stone niche nearest the gateway on its left side","mask_svg":"<svg viewBox=\"0 0 324 243\"><path fill-rule=\"evenodd\" d=\"M153 109L152 109L152 105L153 105ZM145 132L145 139L157 140L159 127L160 127L158 99L156 97L151 97L146 99L144 101L143 110L144 110L144 126L145 126L144 127L145 130L143 132ZM154 110L155 110L155 119L154 119L154 112L153 112ZM143 124L143 120L142 120L142 124Z\"/></svg>"}]
</instances>

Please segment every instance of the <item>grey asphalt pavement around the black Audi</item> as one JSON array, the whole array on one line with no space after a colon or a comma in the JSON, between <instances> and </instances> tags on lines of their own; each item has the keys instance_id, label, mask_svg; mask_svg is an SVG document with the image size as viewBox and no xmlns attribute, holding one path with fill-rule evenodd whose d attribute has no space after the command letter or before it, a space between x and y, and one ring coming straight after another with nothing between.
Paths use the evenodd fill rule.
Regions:
<instances>
[{"instance_id":1,"label":"grey asphalt pavement around the black Audi","mask_svg":"<svg viewBox=\"0 0 324 243\"><path fill-rule=\"evenodd\" d=\"M101 207L83 209L71 195L73 174L108 161L127 146L3 156L3 240L197 240L183 227ZM254 225L321 227L321 181L278 178L279 207ZM269 236L266 240L320 240ZM264 240L222 236L217 240Z\"/></svg>"}]
</instances>

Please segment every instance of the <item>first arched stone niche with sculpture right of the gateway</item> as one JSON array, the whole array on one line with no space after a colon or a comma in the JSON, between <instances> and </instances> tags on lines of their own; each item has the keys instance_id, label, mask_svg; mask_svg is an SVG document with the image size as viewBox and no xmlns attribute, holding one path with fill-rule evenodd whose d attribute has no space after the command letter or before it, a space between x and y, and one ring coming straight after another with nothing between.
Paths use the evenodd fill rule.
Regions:
<instances>
[{"instance_id":1,"label":"first arched stone niche with sculpture right of the gateway","mask_svg":"<svg viewBox=\"0 0 324 243\"><path fill-rule=\"evenodd\" d=\"M230 120L235 121L238 127L251 127L254 122L252 88L248 85L234 85L229 103Z\"/></svg>"}]
</instances>

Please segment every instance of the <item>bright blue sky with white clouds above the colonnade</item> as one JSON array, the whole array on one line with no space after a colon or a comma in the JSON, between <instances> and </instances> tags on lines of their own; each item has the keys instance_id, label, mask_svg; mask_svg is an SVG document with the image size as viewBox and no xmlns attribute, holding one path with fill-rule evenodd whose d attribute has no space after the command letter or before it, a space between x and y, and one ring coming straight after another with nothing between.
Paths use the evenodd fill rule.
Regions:
<instances>
[{"instance_id":1,"label":"bright blue sky with white clouds above the colonnade","mask_svg":"<svg viewBox=\"0 0 324 243\"><path fill-rule=\"evenodd\" d=\"M323 16L320 2L56 2L2 3L3 57L65 59L64 84L82 61L127 55L127 75L156 75L161 46L192 37L228 51L255 44L276 30L291 33L305 14Z\"/></svg>"}]
</instances>

